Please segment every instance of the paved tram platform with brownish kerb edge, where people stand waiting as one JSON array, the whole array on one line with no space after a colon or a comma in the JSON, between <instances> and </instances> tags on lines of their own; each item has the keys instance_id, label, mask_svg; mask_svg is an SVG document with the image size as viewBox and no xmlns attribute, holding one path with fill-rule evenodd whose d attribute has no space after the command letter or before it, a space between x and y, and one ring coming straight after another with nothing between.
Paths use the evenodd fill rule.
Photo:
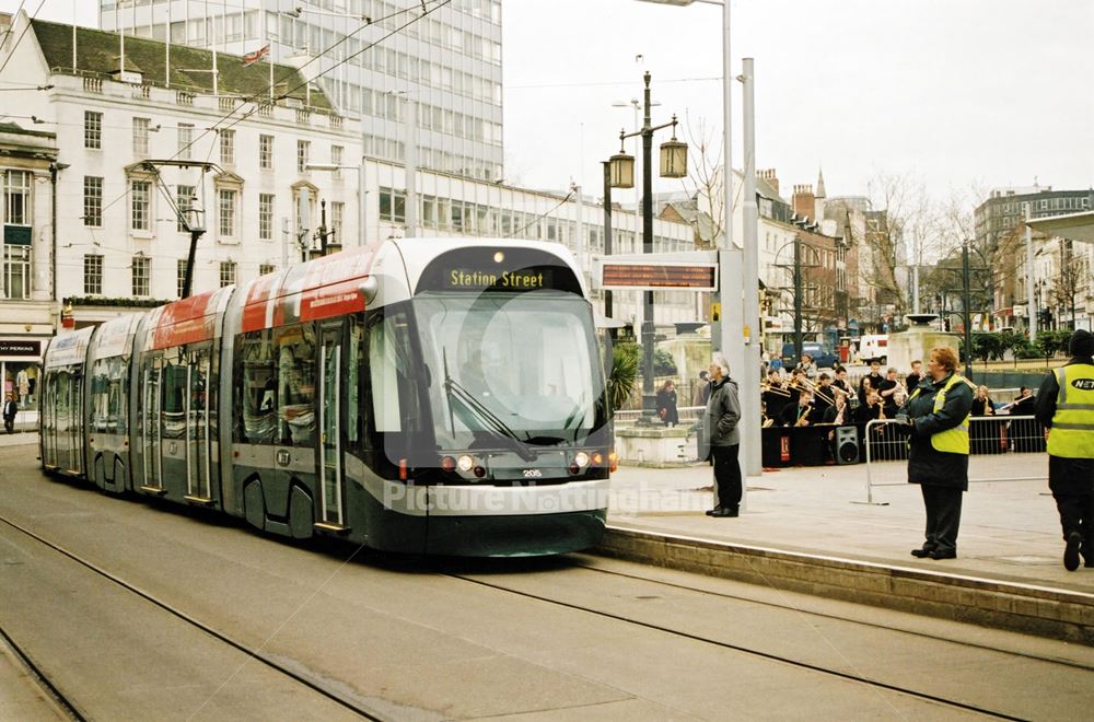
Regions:
<instances>
[{"instance_id":1,"label":"paved tram platform with brownish kerb edge, where people stand waiting","mask_svg":"<svg viewBox=\"0 0 1094 722\"><path fill-rule=\"evenodd\" d=\"M957 558L917 559L923 502L907 463L787 467L711 517L713 470L621 466L601 554L775 589L1094 644L1094 568L1063 568L1045 454L974 457ZM1026 480L1005 480L1021 479Z\"/></svg>"}]
</instances>

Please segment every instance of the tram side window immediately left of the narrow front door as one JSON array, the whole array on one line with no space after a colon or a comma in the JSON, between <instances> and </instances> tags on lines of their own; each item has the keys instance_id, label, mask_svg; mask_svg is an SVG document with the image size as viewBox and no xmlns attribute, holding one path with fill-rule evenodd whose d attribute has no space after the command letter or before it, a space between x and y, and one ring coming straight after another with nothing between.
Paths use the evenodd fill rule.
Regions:
<instances>
[{"instance_id":1,"label":"tram side window immediately left of the narrow front door","mask_svg":"<svg viewBox=\"0 0 1094 722\"><path fill-rule=\"evenodd\" d=\"M278 436L282 444L315 443L315 331L311 325L280 329L278 359Z\"/></svg>"}]
</instances>

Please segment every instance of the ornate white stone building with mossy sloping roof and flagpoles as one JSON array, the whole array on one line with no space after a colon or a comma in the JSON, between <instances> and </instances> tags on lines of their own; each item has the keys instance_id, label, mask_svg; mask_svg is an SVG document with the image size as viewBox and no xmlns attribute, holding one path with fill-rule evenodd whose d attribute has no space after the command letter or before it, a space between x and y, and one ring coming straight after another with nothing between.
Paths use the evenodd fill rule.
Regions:
<instances>
[{"instance_id":1,"label":"ornate white stone building with mossy sloping roof and flagpoles","mask_svg":"<svg viewBox=\"0 0 1094 722\"><path fill-rule=\"evenodd\" d=\"M178 48L168 67L163 43L123 46L113 33L25 13L12 21L2 80L26 90L4 93L18 108L8 118L57 136L57 298L70 300L78 326L135 300L178 298L187 223L206 229L195 292L299 258L298 232L312 242L321 200L335 242L359 237L357 174L307 170L360 155L358 133L322 92L306 94L310 105L303 88L271 104L269 68L222 56L214 94L205 50ZM274 72L302 85L291 68ZM39 290L44 280L35 277Z\"/></svg>"}]
</instances>

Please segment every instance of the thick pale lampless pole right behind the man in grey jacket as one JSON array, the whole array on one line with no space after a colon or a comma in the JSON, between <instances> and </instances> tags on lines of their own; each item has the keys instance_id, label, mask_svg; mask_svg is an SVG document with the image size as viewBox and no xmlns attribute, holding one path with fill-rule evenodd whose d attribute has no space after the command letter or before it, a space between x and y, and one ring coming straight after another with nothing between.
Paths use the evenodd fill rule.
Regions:
<instances>
[{"instance_id":1,"label":"thick pale lampless pole right behind the man in grey jacket","mask_svg":"<svg viewBox=\"0 0 1094 722\"><path fill-rule=\"evenodd\" d=\"M726 2L729 4L729 2ZM760 454L760 364L764 350L764 322L759 316L759 240L758 209L756 207L756 75L753 58L742 60L744 83L744 200L742 230L744 231L744 368L737 370L741 379L741 410L744 454L742 462L746 476L760 476L764 464ZM747 486L747 485L746 485Z\"/></svg>"}]
</instances>

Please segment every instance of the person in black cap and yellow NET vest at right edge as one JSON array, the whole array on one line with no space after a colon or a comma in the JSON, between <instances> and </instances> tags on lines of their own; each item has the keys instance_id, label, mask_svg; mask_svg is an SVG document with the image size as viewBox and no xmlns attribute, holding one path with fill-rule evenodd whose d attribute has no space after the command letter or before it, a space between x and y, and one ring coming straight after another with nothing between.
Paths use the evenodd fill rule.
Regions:
<instances>
[{"instance_id":1,"label":"person in black cap and yellow NET vest at right edge","mask_svg":"<svg viewBox=\"0 0 1094 722\"><path fill-rule=\"evenodd\" d=\"M1063 568L1094 567L1094 335L1071 335L1071 360L1045 376L1037 420L1048 427L1048 488L1063 528Z\"/></svg>"}]
</instances>

